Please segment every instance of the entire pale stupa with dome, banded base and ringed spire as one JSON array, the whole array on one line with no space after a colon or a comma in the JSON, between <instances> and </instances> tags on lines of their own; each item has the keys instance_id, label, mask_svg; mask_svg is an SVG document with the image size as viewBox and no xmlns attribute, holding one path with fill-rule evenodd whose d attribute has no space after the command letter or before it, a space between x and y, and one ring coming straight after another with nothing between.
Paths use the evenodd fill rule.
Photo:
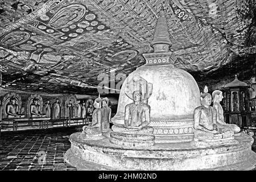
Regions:
<instances>
[{"instance_id":1,"label":"entire pale stupa with dome, banded base and ringed spire","mask_svg":"<svg viewBox=\"0 0 256 182\"><path fill-rule=\"evenodd\" d=\"M166 36L166 27L166 18L160 13L155 33L158 38L154 38L153 45L151 43L154 53L144 53L146 64L138 67L123 82L117 114L112 122L124 123L125 106L133 102L127 97L125 89L130 80L140 76L152 84L152 93L147 102L151 107L150 126L154 127L156 142L184 142L193 137L193 111L200 106L200 90L188 72L174 67L176 57L168 52L170 39Z\"/></svg>"}]
</instances>

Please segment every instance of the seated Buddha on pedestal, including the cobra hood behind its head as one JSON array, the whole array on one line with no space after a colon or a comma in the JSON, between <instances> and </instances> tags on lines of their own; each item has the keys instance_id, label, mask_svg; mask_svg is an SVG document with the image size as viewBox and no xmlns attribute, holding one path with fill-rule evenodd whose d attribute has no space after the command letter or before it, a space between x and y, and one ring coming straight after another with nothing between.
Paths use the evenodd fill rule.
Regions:
<instances>
[{"instance_id":1,"label":"seated Buddha on pedestal, including the cobra hood behind its head","mask_svg":"<svg viewBox=\"0 0 256 182\"><path fill-rule=\"evenodd\" d=\"M135 75L127 82L125 93L133 100L125 106L124 125L113 125L110 142L124 146L153 146L154 129L150 126L150 106L147 99L152 93L152 84Z\"/></svg>"}]
</instances>

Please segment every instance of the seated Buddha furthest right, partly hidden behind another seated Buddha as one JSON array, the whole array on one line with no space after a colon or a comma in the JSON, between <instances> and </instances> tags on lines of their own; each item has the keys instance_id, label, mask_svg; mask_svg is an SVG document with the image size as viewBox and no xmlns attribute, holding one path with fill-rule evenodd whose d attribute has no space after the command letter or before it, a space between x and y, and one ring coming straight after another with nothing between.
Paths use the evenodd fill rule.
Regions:
<instances>
[{"instance_id":1,"label":"seated Buddha furthest right, partly hidden behind another seated Buddha","mask_svg":"<svg viewBox=\"0 0 256 182\"><path fill-rule=\"evenodd\" d=\"M213 113L214 116L216 116L216 125L218 129L222 130L230 130L234 132L234 135L240 135L240 127L234 124L228 124L225 123L224 121L224 115L223 115L223 109L222 106L220 105L220 102L222 101L222 92L220 90L214 90L212 93L212 98L213 98Z\"/></svg>"}]
</instances>

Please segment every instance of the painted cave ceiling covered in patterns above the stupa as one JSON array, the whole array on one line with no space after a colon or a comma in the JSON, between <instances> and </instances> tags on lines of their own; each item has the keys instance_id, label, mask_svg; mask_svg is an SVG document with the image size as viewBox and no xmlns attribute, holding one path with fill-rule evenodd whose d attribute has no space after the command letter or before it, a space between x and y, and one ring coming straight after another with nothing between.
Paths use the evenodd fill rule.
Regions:
<instances>
[{"instance_id":1,"label":"painted cave ceiling covered in patterns above the stupa","mask_svg":"<svg viewBox=\"0 0 256 182\"><path fill-rule=\"evenodd\" d=\"M162 6L175 66L199 85L255 72L254 0L0 0L2 87L94 93L100 73L144 64Z\"/></svg>"}]
</instances>

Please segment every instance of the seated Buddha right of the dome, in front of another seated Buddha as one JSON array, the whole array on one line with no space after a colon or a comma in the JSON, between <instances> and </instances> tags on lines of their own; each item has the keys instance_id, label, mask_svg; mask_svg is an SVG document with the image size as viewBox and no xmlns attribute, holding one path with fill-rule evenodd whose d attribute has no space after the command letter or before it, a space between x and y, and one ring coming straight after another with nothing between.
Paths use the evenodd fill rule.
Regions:
<instances>
[{"instance_id":1,"label":"seated Buddha right of the dome, in front of another seated Buddha","mask_svg":"<svg viewBox=\"0 0 256 182\"><path fill-rule=\"evenodd\" d=\"M232 137L234 131L218 127L216 112L210 104L212 104L212 96L206 92L201 94L201 106L196 107L194 111L192 146L209 147L237 143L237 140Z\"/></svg>"}]
</instances>

